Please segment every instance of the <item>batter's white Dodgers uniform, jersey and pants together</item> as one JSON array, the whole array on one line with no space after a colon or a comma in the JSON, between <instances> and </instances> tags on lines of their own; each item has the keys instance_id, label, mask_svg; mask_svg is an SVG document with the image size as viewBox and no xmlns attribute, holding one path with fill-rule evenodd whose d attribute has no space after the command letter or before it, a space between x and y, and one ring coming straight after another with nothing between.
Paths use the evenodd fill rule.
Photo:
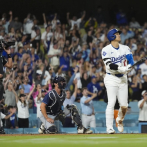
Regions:
<instances>
[{"instance_id":1,"label":"batter's white Dodgers uniform, jersey and pants together","mask_svg":"<svg viewBox=\"0 0 147 147\"><path fill-rule=\"evenodd\" d=\"M104 83L107 89L108 105L106 109L106 126L107 129L113 128L114 106L116 97L118 98L120 106L128 106L128 81L127 75L120 70L112 69L108 63L113 63L119 67L127 66L127 57L132 56L128 46L119 44L119 48L114 48L111 44L102 49L102 59L106 66L106 76ZM132 60L132 59L131 59ZM119 110L119 117L122 117L121 109ZM121 119L121 118L120 118Z\"/></svg>"}]
</instances>

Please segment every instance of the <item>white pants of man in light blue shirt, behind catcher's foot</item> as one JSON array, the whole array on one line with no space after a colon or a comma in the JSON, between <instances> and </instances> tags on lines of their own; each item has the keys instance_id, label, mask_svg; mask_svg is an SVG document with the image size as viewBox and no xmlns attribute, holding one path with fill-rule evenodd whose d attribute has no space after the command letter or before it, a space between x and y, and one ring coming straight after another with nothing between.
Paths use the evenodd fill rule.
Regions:
<instances>
[{"instance_id":1,"label":"white pants of man in light blue shirt, behind catcher's foot","mask_svg":"<svg viewBox=\"0 0 147 147\"><path fill-rule=\"evenodd\" d=\"M96 127L95 115L86 116L82 114L82 124L85 128L88 128L89 126L91 128L95 128Z\"/></svg>"}]
</instances>

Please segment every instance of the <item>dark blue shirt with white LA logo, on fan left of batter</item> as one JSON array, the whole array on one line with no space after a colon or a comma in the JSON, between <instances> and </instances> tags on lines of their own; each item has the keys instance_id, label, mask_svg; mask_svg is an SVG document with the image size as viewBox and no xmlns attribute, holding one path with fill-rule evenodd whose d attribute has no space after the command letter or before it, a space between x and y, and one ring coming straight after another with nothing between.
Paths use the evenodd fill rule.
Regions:
<instances>
[{"instance_id":1,"label":"dark blue shirt with white LA logo, on fan left of batter","mask_svg":"<svg viewBox=\"0 0 147 147\"><path fill-rule=\"evenodd\" d=\"M88 89L88 91L90 91L91 93L97 93L98 94L98 92L102 89L101 87L100 87L100 85L99 85L99 83L96 83L96 84L93 84L92 82L91 83L89 83L88 85L87 85L87 89ZM89 95L90 96L90 95ZM98 100L99 98L98 98L98 96L97 97L95 97L93 100Z\"/></svg>"}]
</instances>

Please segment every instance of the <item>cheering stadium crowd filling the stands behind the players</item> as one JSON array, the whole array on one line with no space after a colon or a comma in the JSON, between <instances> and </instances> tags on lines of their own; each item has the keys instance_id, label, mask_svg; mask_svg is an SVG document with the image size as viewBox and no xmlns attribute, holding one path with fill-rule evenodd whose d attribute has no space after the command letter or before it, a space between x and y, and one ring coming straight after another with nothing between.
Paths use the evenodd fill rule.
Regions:
<instances>
[{"instance_id":1,"label":"cheering stadium crowd filling the stands behind the players","mask_svg":"<svg viewBox=\"0 0 147 147\"><path fill-rule=\"evenodd\" d=\"M59 15L55 13L47 19L43 13L42 25L38 25L37 17L32 14L23 22L13 16L12 11L2 15L0 39L15 41L15 46L11 46L13 69L4 68L5 93L0 101L3 113L13 113L6 121L7 128L29 127L29 108L38 116L41 100L52 89L52 79L56 75L66 78L66 104L80 102L85 87L89 95L95 93L94 101L103 100L106 89L101 50L110 43L108 30L122 31L121 43L130 47L135 62L146 56L146 22L143 26L135 18L128 22L121 11L116 15L115 25L105 23L100 13L89 19L86 19L86 11L80 18L71 18L67 13L67 23L62 23ZM2 55L7 58L5 51ZM141 92L147 90L147 60L136 66L128 77L129 100L141 100Z\"/></svg>"}]
</instances>

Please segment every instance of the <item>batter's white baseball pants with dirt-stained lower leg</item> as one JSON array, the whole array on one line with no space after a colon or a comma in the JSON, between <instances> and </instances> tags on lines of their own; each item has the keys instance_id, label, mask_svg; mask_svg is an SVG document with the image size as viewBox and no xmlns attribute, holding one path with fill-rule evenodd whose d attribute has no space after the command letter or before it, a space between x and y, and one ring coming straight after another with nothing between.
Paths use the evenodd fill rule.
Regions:
<instances>
[{"instance_id":1,"label":"batter's white baseball pants with dirt-stained lower leg","mask_svg":"<svg viewBox=\"0 0 147 147\"><path fill-rule=\"evenodd\" d=\"M106 127L107 129L110 129L113 128L114 106L116 103L116 98L118 98L120 107L128 107L127 75L124 75L123 77L116 77L115 75L106 74L104 83L108 96L108 105L106 108ZM119 109L118 116L119 119L122 119L123 114L121 109Z\"/></svg>"}]
</instances>

